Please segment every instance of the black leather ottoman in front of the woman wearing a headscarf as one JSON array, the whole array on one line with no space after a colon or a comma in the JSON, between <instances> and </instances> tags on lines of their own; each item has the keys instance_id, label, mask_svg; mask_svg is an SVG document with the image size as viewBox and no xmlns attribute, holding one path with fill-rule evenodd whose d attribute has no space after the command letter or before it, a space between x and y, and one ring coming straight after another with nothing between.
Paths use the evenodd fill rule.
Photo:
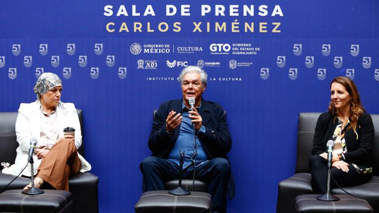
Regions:
<instances>
[{"instance_id":1,"label":"black leather ottoman in front of the woman wearing a headscarf","mask_svg":"<svg viewBox=\"0 0 379 213\"><path fill-rule=\"evenodd\" d=\"M0 194L0 212L11 213L71 213L71 192L44 190L43 194L26 195L21 189Z\"/></svg>"}]
</instances>

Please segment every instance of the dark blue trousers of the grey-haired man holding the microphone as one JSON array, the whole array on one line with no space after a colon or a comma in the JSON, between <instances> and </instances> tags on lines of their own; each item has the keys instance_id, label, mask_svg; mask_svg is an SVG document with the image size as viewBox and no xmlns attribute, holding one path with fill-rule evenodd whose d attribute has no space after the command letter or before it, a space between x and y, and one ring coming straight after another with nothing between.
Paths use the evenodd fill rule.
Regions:
<instances>
[{"instance_id":1,"label":"dark blue trousers of the grey-haired man holding the microphone","mask_svg":"<svg viewBox=\"0 0 379 213\"><path fill-rule=\"evenodd\" d=\"M165 181L179 177L180 167L167 159L147 157L140 165L143 174L143 191L164 190ZM193 164L183 171L182 177L193 178ZM212 195L212 210L225 213L227 208L227 182L230 177L230 165L225 158L214 158L196 167L195 179L208 184L208 193Z\"/></svg>"}]
</instances>

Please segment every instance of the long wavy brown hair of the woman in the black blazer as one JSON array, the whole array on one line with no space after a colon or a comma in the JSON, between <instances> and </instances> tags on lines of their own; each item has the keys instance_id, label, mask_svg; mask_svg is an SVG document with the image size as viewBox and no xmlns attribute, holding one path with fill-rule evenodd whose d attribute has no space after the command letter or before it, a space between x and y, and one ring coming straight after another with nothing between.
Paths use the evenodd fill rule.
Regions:
<instances>
[{"instance_id":1,"label":"long wavy brown hair of the woman in the black blazer","mask_svg":"<svg viewBox=\"0 0 379 213\"><path fill-rule=\"evenodd\" d=\"M361 103L361 98L359 97L358 89L355 86L354 82L347 77L336 77L335 79L332 80L330 83L330 87L332 88L332 84L340 83L342 86L345 87L346 91L349 93L351 100L350 100L350 115L349 115L349 120L350 120L350 125L347 127L346 130L352 129L354 133L357 135L358 139L358 134L355 131L355 128L357 127L358 123L358 118L363 114L365 111L365 108L362 106ZM337 109L333 104L333 101L330 102L328 110L331 111L334 114L334 118L337 118Z\"/></svg>"}]
</instances>

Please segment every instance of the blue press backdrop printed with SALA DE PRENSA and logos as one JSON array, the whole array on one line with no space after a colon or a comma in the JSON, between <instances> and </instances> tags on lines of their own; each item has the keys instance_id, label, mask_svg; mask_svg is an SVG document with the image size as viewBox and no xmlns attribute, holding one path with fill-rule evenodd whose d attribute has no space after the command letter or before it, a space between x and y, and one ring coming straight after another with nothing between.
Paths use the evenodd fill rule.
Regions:
<instances>
[{"instance_id":1,"label":"blue press backdrop printed with SALA DE PRENSA and logos","mask_svg":"<svg viewBox=\"0 0 379 213\"><path fill-rule=\"evenodd\" d=\"M40 73L57 73L62 101L83 109L100 212L133 212L152 110L181 98L180 71L198 65L233 139L228 212L274 212L277 183L295 170L298 114L326 111L334 77L352 78L379 113L378 10L377 0L2 2L0 111L35 101Z\"/></svg>"}]
</instances>

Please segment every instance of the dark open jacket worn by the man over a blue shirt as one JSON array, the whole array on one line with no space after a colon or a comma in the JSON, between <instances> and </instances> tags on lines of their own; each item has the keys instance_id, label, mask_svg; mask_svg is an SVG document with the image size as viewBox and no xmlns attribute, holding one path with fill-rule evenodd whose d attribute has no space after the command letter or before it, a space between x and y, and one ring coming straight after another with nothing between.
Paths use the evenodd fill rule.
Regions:
<instances>
[{"instance_id":1,"label":"dark open jacket worn by the man over a blue shirt","mask_svg":"<svg viewBox=\"0 0 379 213\"><path fill-rule=\"evenodd\" d=\"M152 156L167 158L179 135L179 127L174 134L166 131L166 118L171 110L176 114L182 113L183 99L172 100L161 104L155 113L152 123L152 132L149 137L149 148ZM207 153L208 159L227 158L231 149L231 137L227 129L227 119L224 109L215 102L202 99L199 114L203 119L205 134L199 136L199 141ZM234 180L230 175L228 183L229 199L234 197Z\"/></svg>"}]
</instances>

